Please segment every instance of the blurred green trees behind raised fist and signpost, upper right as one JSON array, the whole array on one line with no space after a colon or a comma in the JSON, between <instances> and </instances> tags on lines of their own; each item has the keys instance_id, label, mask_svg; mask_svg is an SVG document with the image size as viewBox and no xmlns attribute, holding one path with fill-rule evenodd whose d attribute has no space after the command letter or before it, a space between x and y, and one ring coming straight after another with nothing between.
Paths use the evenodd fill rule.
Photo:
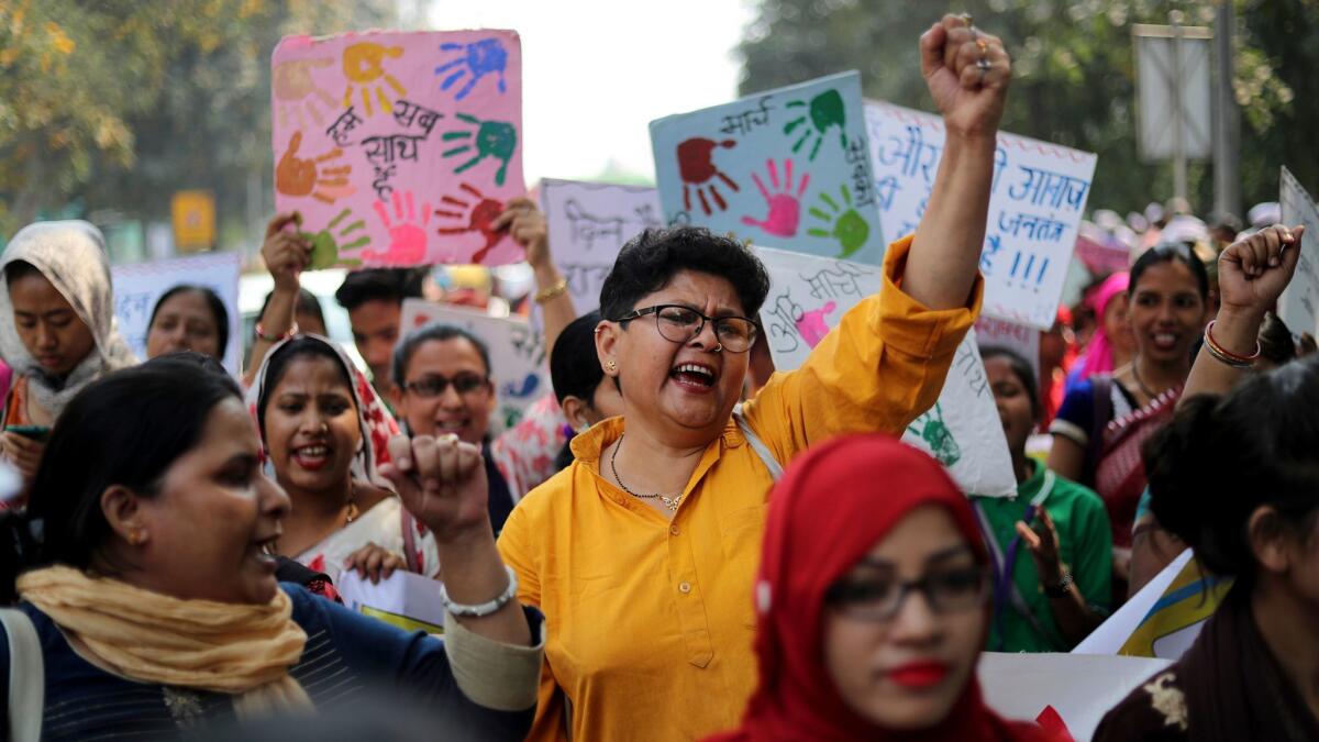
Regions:
<instances>
[{"instance_id":1,"label":"blurred green trees behind raised fist and signpost, upper right","mask_svg":"<svg viewBox=\"0 0 1319 742\"><path fill-rule=\"evenodd\" d=\"M1245 206L1277 199L1279 165L1319 193L1319 3L1229 1ZM943 12L969 12L1013 57L1004 128L1099 153L1091 207L1142 209L1171 195L1173 177L1137 156L1132 24L1166 24L1174 8L1187 25L1213 25L1212 0L761 0L740 45L741 91L856 69L868 96L933 110L917 38ZM1198 213L1212 207L1212 185L1208 164L1192 164Z\"/></svg>"}]
</instances>

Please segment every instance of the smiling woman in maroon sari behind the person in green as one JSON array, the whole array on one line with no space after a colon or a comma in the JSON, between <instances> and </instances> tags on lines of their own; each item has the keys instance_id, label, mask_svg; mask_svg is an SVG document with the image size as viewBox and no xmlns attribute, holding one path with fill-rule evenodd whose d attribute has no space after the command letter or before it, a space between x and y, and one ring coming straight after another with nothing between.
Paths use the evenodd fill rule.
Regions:
<instances>
[{"instance_id":1,"label":"smiling woman in maroon sari behind the person in green","mask_svg":"<svg viewBox=\"0 0 1319 742\"><path fill-rule=\"evenodd\" d=\"M1204 330L1210 279L1190 250L1171 244L1141 255L1126 292L1136 356L1079 383L1049 428L1049 469L1095 490L1108 508L1115 595L1126 594L1132 524L1145 490L1141 444L1177 407Z\"/></svg>"}]
</instances>

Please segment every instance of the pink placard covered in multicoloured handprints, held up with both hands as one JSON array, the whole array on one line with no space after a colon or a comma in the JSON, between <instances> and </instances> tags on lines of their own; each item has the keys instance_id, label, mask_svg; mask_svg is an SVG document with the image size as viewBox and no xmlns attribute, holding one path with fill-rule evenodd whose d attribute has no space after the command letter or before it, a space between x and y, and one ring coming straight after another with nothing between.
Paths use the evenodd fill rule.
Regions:
<instances>
[{"instance_id":1,"label":"pink placard covered in multicoloured handprints, held up with both hands","mask_svg":"<svg viewBox=\"0 0 1319 742\"><path fill-rule=\"evenodd\" d=\"M522 259L491 228L525 191L517 33L293 36L272 65L276 207L313 268Z\"/></svg>"}]
</instances>

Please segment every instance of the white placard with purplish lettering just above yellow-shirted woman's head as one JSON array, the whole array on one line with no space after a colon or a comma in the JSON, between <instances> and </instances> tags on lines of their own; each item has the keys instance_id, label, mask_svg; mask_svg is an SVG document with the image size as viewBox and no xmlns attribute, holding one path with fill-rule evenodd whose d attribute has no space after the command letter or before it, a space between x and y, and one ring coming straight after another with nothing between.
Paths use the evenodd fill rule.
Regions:
<instances>
[{"instance_id":1,"label":"white placard with purplish lettering just above yellow-shirted woman's head","mask_svg":"<svg viewBox=\"0 0 1319 742\"><path fill-rule=\"evenodd\" d=\"M653 187L543 180L541 210L554 263L579 314L600 306L600 287L624 243L646 227L663 226Z\"/></svg>"}]
</instances>

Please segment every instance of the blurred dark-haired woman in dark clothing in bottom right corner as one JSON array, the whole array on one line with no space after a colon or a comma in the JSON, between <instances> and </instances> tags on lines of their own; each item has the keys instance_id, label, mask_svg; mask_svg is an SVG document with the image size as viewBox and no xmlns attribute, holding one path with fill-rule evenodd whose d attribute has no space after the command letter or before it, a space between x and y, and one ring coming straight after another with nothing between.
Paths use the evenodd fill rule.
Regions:
<instances>
[{"instance_id":1,"label":"blurred dark-haired woman in dark clothing in bottom right corner","mask_svg":"<svg viewBox=\"0 0 1319 742\"><path fill-rule=\"evenodd\" d=\"M1213 331L1223 359L1196 367L1249 358L1254 341L1227 330ZM1155 518L1235 582L1177 664L1104 717L1097 742L1319 739L1316 408L1319 362L1304 359L1188 399L1150 440Z\"/></svg>"}]
</instances>

